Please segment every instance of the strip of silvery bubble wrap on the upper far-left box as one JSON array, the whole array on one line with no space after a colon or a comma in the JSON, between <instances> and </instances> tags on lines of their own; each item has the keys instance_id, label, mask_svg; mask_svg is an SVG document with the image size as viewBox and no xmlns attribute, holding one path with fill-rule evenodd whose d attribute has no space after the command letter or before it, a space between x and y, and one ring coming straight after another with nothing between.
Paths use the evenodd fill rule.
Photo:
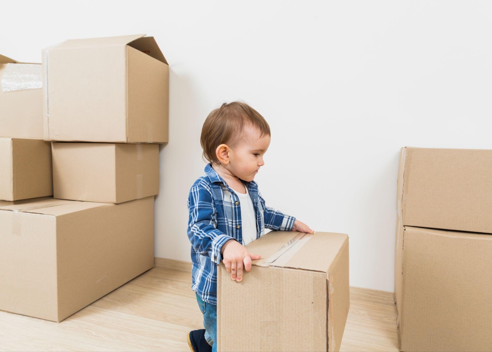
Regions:
<instances>
[{"instance_id":1,"label":"strip of silvery bubble wrap on the upper far-left box","mask_svg":"<svg viewBox=\"0 0 492 352\"><path fill-rule=\"evenodd\" d=\"M39 64L7 64L0 80L2 92L13 92L43 87L43 74Z\"/></svg>"}]
</instances>

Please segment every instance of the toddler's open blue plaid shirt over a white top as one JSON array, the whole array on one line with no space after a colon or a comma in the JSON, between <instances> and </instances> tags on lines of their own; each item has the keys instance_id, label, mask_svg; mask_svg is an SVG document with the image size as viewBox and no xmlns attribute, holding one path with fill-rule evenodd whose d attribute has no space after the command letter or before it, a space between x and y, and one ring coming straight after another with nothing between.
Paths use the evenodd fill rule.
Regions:
<instances>
[{"instance_id":1,"label":"toddler's open blue plaid shirt over a white top","mask_svg":"<svg viewBox=\"0 0 492 352\"><path fill-rule=\"evenodd\" d=\"M256 212L256 238L272 230L291 231L295 217L265 206L255 181L243 181ZM205 302L217 304L217 265L220 248L234 239L243 244L240 199L218 176L211 164L198 178L188 196L188 238L193 263L191 289Z\"/></svg>"}]
</instances>

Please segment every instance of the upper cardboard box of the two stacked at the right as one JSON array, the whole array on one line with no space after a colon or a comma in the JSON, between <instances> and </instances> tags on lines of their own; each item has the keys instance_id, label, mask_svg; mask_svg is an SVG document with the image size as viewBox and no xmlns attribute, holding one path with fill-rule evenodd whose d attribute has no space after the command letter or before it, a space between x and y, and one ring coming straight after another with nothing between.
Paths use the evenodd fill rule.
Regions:
<instances>
[{"instance_id":1,"label":"upper cardboard box of the two stacked at the right","mask_svg":"<svg viewBox=\"0 0 492 352\"><path fill-rule=\"evenodd\" d=\"M405 226L492 233L492 150L402 148L398 214Z\"/></svg>"}]
</instances>

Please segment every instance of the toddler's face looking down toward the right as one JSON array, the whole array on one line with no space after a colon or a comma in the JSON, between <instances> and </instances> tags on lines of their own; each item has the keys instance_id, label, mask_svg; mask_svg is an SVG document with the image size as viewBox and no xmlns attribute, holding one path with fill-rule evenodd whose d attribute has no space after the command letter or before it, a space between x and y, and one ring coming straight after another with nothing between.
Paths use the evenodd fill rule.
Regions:
<instances>
[{"instance_id":1,"label":"toddler's face looking down toward the right","mask_svg":"<svg viewBox=\"0 0 492 352\"><path fill-rule=\"evenodd\" d=\"M260 137L260 132L246 126L242 140L230 149L229 164L226 168L235 176L245 181L252 181L254 176L265 165L263 155L270 145L270 136Z\"/></svg>"}]
</instances>

